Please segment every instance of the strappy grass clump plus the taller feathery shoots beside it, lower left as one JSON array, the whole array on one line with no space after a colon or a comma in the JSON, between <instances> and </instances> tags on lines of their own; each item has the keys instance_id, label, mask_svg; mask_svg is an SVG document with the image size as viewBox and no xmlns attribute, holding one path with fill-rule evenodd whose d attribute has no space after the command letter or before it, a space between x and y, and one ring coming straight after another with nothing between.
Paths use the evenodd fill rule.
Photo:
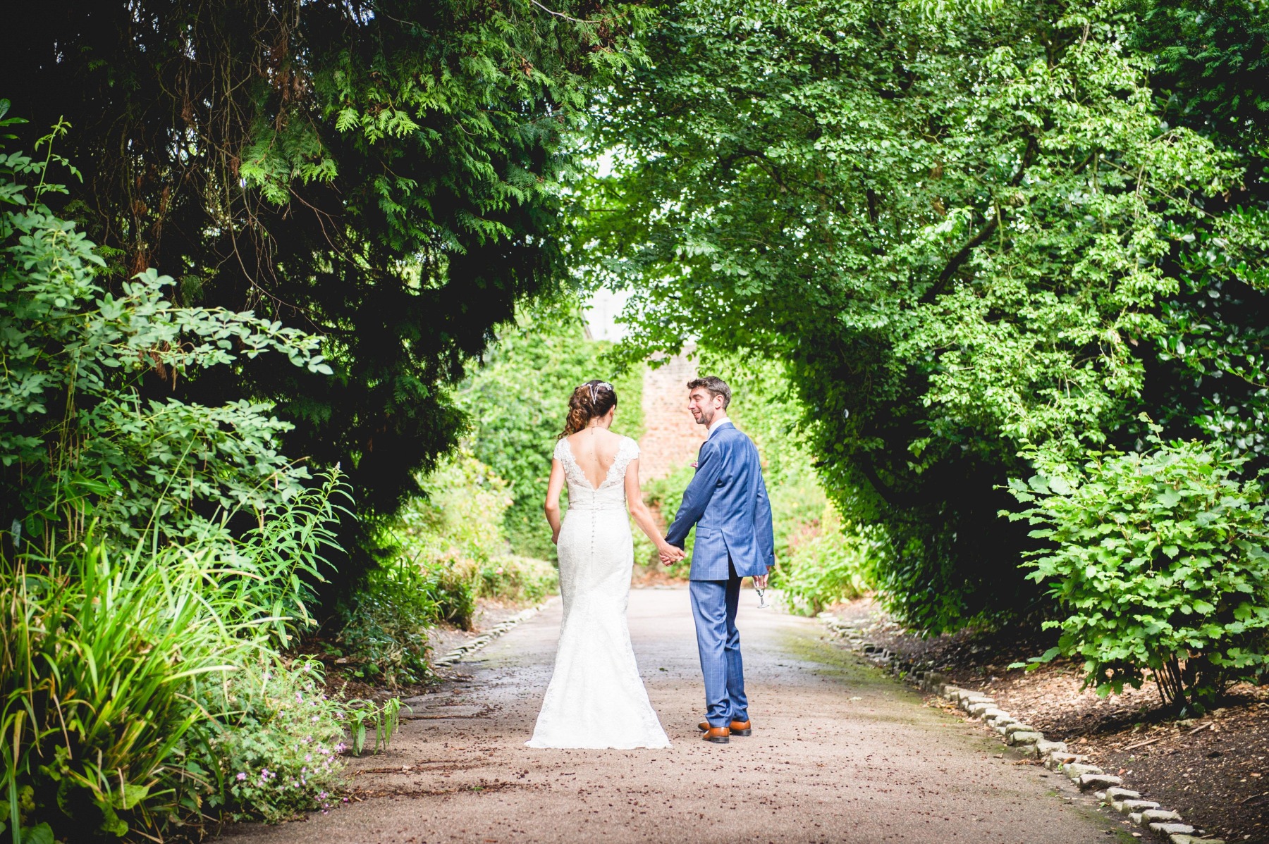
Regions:
<instances>
[{"instance_id":1,"label":"strappy grass clump plus the taller feathery shoots beside it, lower left","mask_svg":"<svg viewBox=\"0 0 1269 844\"><path fill-rule=\"evenodd\" d=\"M223 802L208 741L237 717L230 675L277 663L306 623L339 489L331 474L231 547L112 550L90 534L0 560L0 802L14 841L42 822L79 840L85 819L109 836L161 833L206 796Z\"/></svg>"}]
</instances>

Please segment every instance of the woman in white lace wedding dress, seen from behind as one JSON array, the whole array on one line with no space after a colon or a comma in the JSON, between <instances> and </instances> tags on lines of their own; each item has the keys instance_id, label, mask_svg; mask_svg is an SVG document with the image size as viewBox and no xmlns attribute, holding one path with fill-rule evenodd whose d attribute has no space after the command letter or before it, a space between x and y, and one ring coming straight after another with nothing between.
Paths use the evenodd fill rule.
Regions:
<instances>
[{"instance_id":1,"label":"woman in white lace wedding dress, seen from behind","mask_svg":"<svg viewBox=\"0 0 1269 844\"><path fill-rule=\"evenodd\" d=\"M569 399L556 444L546 512L560 555L563 622L555 673L530 748L667 748L647 700L626 623L634 549L629 508L662 555L683 551L661 539L638 488L638 446L609 431L617 393L586 381ZM569 484L569 513L560 490Z\"/></svg>"}]
</instances>

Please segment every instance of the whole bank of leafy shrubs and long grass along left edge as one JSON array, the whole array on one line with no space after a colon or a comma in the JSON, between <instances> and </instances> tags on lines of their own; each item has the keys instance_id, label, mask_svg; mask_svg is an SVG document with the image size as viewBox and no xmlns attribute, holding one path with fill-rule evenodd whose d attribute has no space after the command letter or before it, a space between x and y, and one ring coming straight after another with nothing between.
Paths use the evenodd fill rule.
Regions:
<instances>
[{"instance_id":1,"label":"whole bank of leafy shrubs and long grass along left edge","mask_svg":"<svg viewBox=\"0 0 1269 844\"><path fill-rule=\"evenodd\" d=\"M346 485L278 454L289 425L268 404L170 393L266 351L331 370L310 335L175 305L154 269L112 286L102 250L44 204L62 190L46 181L56 160L0 151L6 825L27 828L15 840L161 836L320 805L336 710L302 712L298 730L244 672L274 675L288 698L311 684L277 648L313 625ZM315 735L325 762L306 770ZM247 783L225 768L247 762L270 773Z\"/></svg>"}]
</instances>

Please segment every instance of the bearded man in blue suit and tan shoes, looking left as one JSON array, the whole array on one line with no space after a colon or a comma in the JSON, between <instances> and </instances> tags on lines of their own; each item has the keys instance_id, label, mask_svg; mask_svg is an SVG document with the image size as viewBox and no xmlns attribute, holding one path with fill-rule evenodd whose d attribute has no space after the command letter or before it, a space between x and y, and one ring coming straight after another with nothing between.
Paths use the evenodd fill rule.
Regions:
<instances>
[{"instance_id":1,"label":"bearded man in blue suit and tan shoes, looking left","mask_svg":"<svg viewBox=\"0 0 1269 844\"><path fill-rule=\"evenodd\" d=\"M775 539L758 449L727 419L731 388L711 375L688 381L688 390L692 416L709 433L700 445L697 474L665 536L679 553L662 554L661 561L670 565L687 556L683 544L695 525L690 593L706 679L700 729L706 741L727 744L730 736L751 731L736 630L740 580L751 577L766 588L766 573L775 565Z\"/></svg>"}]
</instances>

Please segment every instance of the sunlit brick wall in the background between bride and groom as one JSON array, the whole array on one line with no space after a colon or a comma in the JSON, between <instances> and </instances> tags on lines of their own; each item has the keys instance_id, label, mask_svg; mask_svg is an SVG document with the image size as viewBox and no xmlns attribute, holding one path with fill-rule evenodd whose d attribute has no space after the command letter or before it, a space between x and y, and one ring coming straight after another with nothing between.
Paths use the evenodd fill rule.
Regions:
<instances>
[{"instance_id":1,"label":"sunlit brick wall in the background between bride and groom","mask_svg":"<svg viewBox=\"0 0 1269 844\"><path fill-rule=\"evenodd\" d=\"M697 459L706 438L704 426L697 425L688 411L688 381L697 376L697 365L685 354L643 371L643 437L640 440L640 483L665 478Z\"/></svg>"}]
</instances>

